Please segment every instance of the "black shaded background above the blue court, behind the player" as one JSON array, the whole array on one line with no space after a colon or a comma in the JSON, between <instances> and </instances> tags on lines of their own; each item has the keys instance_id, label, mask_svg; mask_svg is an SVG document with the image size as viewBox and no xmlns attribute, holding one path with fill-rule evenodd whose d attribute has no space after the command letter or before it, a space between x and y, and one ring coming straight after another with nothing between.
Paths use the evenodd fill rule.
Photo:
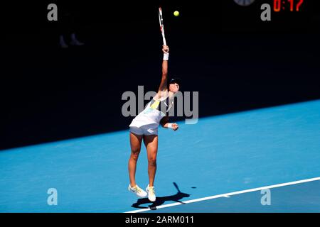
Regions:
<instances>
[{"instance_id":1,"label":"black shaded background above the blue court, behind the player","mask_svg":"<svg viewBox=\"0 0 320 227\"><path fill-rule=\"evenodd\" d=\"M159 5L169 76L199 92L201 117L320 99L319 1L267 22L260 6L273 1L214 2L1 4L0 149L127 129L122 93L161 79ZM50 3L75 12L84 46L59 47Z\"/></svg>"}]
</instances>

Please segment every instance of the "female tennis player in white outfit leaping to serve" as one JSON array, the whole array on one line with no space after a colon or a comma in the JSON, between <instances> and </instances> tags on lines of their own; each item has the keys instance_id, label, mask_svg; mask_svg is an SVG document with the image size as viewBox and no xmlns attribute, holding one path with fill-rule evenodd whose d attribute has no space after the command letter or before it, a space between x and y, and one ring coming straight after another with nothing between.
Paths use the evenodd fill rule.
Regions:
<instances>
[{"instance_id":1,"label":"female tennis player in white outfit leaping to serve","mask_svg":"<svg viewBox=\"0 0 320 227\"><path fill-rule=\"evenodd\" d=\"M129 158L130 184L128 189L138 197L148 195L150 201L156 201L154 177L156 175L159 124L164 128L172 128L174 131L178 130L178 124L168 122L168 112L174 104L174 95L178 92L181 83L178 78L171 79L170 82L168 82L169 47L163 45L162 52L164 52L164 58L162 61L162 77L159 90L149 104L146 105L144 111L137 115L129 125L131 155ZM149 184L146 187L146 192L136 184L135 180L137 160L141 150L142 140L144 140L148 157Z\"/></svg>"}]
</instances>

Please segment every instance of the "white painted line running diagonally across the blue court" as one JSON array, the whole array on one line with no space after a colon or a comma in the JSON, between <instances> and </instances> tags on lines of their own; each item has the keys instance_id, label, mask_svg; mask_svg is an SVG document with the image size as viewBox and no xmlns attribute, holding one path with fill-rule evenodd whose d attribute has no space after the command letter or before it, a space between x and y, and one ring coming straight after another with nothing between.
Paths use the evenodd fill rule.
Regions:
<instances>
[{"instance_id":1,"label":"white painted line running diagonally across the blue court","mask_svg":"<svg viewBox=\"0 0 320 227\"><path fill-rule=\"evenodd\" d=\"M255 191L260 191L263 189L272 189L274 187L284 187L287 185L292 185L292 184L301 184L301 183L305 183L305 182L313 182L316 180L320 180L320 177L314 177L314 178L310 178L310 179L302 179L302 180L298 180L295 182L288 182L288 183L282 183L282 184L273 184L270 186L265 186L265 187L257 187L255 189L247 189L247 190L242 190L242 191L238 191L238 192L230 192L230 193L225 193L225 194L218 194L215 196L208 196L208 197L203 197L200 199L191 199L191 200L187 200L187 201L182 201L183 204L191 204L194 203L196 201L204 201L204 200L208 200L208 199L216 199L216 198L220 198L220 197L228 197L228 196L233 196L235 194L243 194L243 193L247 193L247 192L255 192ZM170 207L170 206L178 206L178 205L183 205L181 203L174 203L174 204L166 204L166 205L161 205L161 206L156 206L156 209L161 209L161 208L165 208L165 207ZM134 210L134 211L127 211L124 213L139 213L139 212L144 212L144 211L150 211L151 209L146 208L146 209L139 209L139 210Z\"/></svg>"}]
</instances>

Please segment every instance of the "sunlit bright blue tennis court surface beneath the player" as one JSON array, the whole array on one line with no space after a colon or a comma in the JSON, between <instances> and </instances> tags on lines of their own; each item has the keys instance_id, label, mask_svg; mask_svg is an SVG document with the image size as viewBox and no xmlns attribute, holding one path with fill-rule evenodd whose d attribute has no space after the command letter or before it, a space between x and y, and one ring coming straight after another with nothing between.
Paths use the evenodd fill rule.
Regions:
<instances>
[{"instance_id":1,"label":"sunlit bright blue tennis court surface beneath the player","mask_svg":"<svg viewBox=\"0 0 320 227\"><path fill-rule=\"evenodd\" d=\"M1 150L0 211L320 212L319 128L319 100L159 128L155 204L127 191L128 131Z\"/></svg>"}]
</instances>

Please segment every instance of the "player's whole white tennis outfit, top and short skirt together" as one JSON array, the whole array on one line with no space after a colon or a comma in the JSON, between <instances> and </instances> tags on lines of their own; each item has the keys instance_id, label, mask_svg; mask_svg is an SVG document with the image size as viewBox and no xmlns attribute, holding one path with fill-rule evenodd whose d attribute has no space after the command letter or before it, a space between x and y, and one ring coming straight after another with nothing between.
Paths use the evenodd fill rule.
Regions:
<instances>
[{"instance_id":1,"label":"player's whole white tennis outfit, top and short skirt together","mask_svg":"<svg viewBox=\"0 0 320 227\"><path fill-rule=\"evenodd\" d=\"M171 106L169 97L162 101L151 99L146 108L132 120L130 132L137 135L157 135L161 118L166 116Z\"/></svg>"}]
</instances>

